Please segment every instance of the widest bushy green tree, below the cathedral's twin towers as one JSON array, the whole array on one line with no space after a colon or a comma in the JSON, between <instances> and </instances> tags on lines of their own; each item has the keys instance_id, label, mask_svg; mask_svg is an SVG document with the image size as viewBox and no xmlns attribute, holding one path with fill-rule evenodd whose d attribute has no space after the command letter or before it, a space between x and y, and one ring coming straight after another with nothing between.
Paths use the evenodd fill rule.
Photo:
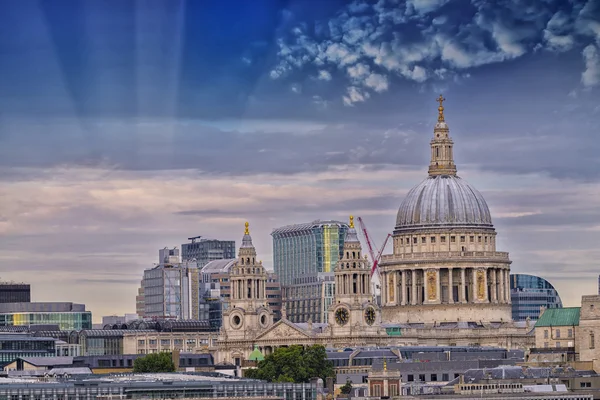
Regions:
<instances>
[{"instance_id":1,"label":"widest bushy green tree, below the cathedral's twin towers","mask_svg":"<svg viewBox=\"0 0 600 400\"><path fill-rule=\"evenodd\" d=\"M327 359L325 347L293 345L281 347L258 363L258 368L246 371L246 377L269 382L309 382L333 376L333 365Z\"/></svg>"}]
</instances>

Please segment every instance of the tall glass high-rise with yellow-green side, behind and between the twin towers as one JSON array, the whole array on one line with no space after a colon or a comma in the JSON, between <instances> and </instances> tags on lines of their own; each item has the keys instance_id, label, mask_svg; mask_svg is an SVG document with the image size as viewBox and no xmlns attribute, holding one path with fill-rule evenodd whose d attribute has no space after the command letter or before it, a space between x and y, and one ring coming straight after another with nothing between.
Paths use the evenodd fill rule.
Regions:
<instances>
[{"instance_id":1,"label":"tall glass high-rise with yellow-green side, behind and between the twin towers","mask_svg":"<svg viewBox=\"0 0 600 400\"><path fill-rule=\"evenodd\" d=\"M273 268L282 286L295 278L333 272L344 248L348 224L313 221L273 230Z\"/></svg>"}]
</instances>

